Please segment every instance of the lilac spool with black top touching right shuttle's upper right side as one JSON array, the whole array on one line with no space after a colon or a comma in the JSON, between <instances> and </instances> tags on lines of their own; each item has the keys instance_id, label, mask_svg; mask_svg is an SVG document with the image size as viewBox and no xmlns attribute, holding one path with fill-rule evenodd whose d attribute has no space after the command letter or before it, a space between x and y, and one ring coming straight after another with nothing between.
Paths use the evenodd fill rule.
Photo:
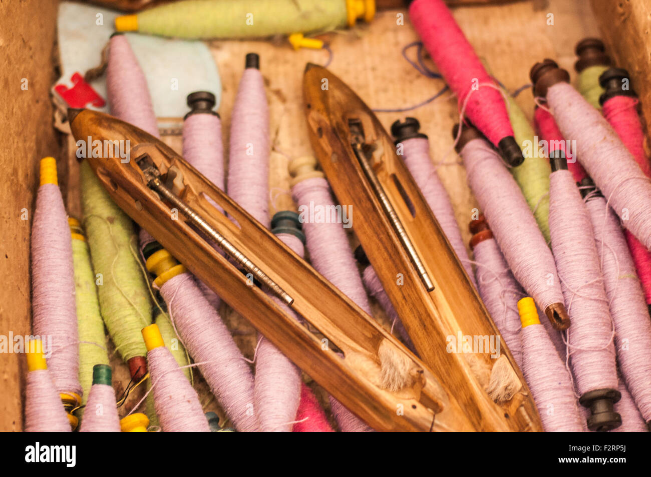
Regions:
<instances>
[{"instance_id":1,"label":"lilac spool with black top touching right shuttle's upper right side","mask_svg":"<svg viewBox=\"0 0 651 477\"><path fill-rule=\"evenodd\" d=\"M473 266L470 264L464 239L461 238L459 225L454 217L454 209L443 183L436 173L436 167L430 157L430 141L419 132L421 124L415 118L406 118L404 122L395 121L391 125L391 134L396 138L396 146L402 144L402 159L413 176L422 196L432 209L436 221L452 245L468 278L477 288Z\"/></svg>"}]
</instances>

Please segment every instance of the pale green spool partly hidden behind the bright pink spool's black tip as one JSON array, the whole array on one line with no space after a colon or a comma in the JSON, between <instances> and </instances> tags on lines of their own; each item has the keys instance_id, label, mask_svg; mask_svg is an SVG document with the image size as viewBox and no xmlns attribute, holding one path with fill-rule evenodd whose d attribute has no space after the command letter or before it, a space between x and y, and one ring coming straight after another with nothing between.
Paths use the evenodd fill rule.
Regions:
<instances>
[{"instance_id":1,"label":"pale green spool partly hidden behind the bright pink spool's black tip","mask_svg":"<svg viewBox=\"0 0 651 477\"><path fill-rule=\"evenodd\" d=\"M527 120L527 116L520 109L516 100L506 95L508 101L508 118L511 121L516 141L525 156L525 161L518 167L512 167L511 173L533 212L538 228L547 243L549 236L549 174L551 167L546 157L540 157L534 131ZM529 147L527 147L527 145Z\"/></svg>"}]
</instances>

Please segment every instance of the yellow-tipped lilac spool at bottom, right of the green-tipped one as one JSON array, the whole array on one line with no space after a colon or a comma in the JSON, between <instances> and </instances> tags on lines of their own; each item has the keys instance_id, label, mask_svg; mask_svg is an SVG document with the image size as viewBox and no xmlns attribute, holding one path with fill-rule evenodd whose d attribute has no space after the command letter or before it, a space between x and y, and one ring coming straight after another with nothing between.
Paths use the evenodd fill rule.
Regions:
<instances>
[{"instance_id":1,"label":"yellow-tipped lilac spool at bottom, right of the green-tipped one","mask_svg":"<svg viewBox=\"0 0 651 477\"><path fill-rule=\"evenodd\" d=\"M156 415L164 432L210 432L199 396L165 348L156 324L143 328Z\"/></svg>"}]
</instances>

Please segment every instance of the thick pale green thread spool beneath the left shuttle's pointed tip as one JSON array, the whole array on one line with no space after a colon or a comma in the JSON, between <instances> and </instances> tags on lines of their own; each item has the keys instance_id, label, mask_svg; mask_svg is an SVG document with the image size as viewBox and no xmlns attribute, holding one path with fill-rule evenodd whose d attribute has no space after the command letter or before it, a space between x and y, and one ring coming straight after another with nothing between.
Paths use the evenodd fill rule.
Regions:
<instances>
[{"instance_id":1,"label":"thick pale green thread spool beneath the left shuttle's pointed tip","mask_svg":"<svg viewBox=\"0 0 651 477\"><path fill-rule=\"evenodd\" d=\"M150 325L147 284L131 251L131 219L113 202L87 161L81 163L81 202L102 318L124 361L146 356L141 329ZM133 372L132 372L133 374Z\"/></svg>"}]
</instances>

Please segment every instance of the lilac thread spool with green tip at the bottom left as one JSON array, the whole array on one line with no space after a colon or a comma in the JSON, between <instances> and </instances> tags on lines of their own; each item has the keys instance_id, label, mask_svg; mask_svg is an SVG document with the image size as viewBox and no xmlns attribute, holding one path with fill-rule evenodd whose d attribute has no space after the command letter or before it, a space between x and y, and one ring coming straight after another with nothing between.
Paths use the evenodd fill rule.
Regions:
<instances>
[{"instance_id":1,"label":"lilac thread spool with green tip at the bottom left","mask_svg":"<svg viewBox=\"0 0 651 477\"><path fill-rule=\"evenodd\" d=\"M92 367L92 387L80 432L120 432L115 391L111 385L111 366L96 364Z\"/></svg>"}]
</instances>

